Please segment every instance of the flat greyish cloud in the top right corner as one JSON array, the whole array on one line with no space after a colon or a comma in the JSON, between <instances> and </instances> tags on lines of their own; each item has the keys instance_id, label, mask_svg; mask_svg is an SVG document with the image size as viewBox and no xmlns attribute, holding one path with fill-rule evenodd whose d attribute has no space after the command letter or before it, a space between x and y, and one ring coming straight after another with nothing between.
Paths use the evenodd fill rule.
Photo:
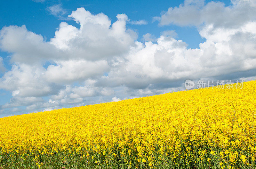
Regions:
<instances>
[{"instance_id":1,"label":"flat greyish cloud in the top right corner","mask_svg":"<svg viewBox=\"0 0 256 169\"><path fill-rule=\"evenodd\" d=\"M231 6L222 2L211 1L205 5L204 0L185 0L179 7L170 7L161 17L160 25L214 25L214 27L240 27L256 18L254 0L232 0Z\"/></svg>"}]
</instances>

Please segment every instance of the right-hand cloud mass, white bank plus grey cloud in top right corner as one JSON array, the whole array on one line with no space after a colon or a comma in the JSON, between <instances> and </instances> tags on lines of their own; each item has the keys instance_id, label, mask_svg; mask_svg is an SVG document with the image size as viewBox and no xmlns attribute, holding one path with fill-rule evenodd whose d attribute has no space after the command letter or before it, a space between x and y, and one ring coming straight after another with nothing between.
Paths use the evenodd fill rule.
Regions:
<instances>
[{"instance_id":1,"label":"right-hand cloud mass, white bank plus grey cloud in top right corner","mask_svg":"<svg viewBox=\"0 0 256 169\"><path fill-rule=\"evenodd\" d=\"M185 1L179 7L170 8L169 11L174 11L166 12L159 18L162 25L198 26L199 34L206 39L199 45L199 49L188 49L185 42L174 39L177 37L175 31L164 31L157 38L156 43L137 42L137 47L131 48L130 54L127 56L128 61L125 64L119 63L120 67L124 67L124 69L122 71L111 69L108 77L102 77L100 83L111 86L125 84L129 88L143 89L140 92L146 94L150 93L150 90L144 90L149 85L152 85L151 88L159 88L164 86L164 83L182 79L221 76L255 69L256 19L252 15L254 11L250 10L254 5L253 2L234 1L231 6L223 6L222 11L216 12L223 17L211 20L211 22L205 18L202 22L191 21L188 18L193 16L191 12L195 12L195 18L200 19L200 17L204 17L204 12L216 10L221 3L210 2L210 4L205 5L204 1ZM204 11L203 9L206 7L207 10ZM244 13L240 16L244 17L241 22L238 23L237 20L230 18L231 16L225 18L227 11L230 14L239 13L238 9ZM202 16L200 14L199 17L197 13L202 11ZM184 17L184 19L179 17L176 19L174 14ZM152 35L148 33L144 36L144 40L153 41L154 39L151 37Z\"/></svg>"}]
</instances>

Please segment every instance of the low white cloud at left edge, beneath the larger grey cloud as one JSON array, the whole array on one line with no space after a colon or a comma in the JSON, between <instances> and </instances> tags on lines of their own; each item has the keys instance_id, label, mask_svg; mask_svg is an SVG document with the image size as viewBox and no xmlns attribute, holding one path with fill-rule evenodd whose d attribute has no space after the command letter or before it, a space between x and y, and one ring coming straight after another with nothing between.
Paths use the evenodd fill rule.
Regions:
<instances>
[{"instance_id":1,"label":"low white cloud at left edge, beneath the larger grey cloud","mask_svg":"<svg viewBox=\"0 0 256 169\"><path fill-rule=\"evenodd\" d=\"M13 96L40 97L57 93L60 86L45 81L43 67L13 65L12 70L0 78L0 88L12 91Z\"/></svg>"}]
</instances>

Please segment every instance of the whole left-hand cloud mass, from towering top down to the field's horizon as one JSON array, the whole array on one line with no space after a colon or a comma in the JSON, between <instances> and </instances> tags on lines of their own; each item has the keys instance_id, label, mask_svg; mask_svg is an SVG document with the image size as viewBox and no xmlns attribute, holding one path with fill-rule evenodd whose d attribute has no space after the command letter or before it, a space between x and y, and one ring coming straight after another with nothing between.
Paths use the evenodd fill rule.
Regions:
<instances>
[{"instance_id":1,"label":"whole left-hand cloud mass, from towering top down to the field's horizon","mask_svg":"<svg viewBox=\"0 0 256 169\"><path fill-rule=\"evenodd\" d=\"M68 84L99 78L110 70L108 60L129 52L136 35L126 29L128 17L118 14L117 21L111 25L106 15L92 15L84 8L78 8L69 17L79 23L80 28L62 22L49 42L28 31L25 25L2 28L0 48L12 53L12 69L0 78L0 88L11 91L13 96L2 108L22 105L28 105L27 110L51 108L83 102L83 97L114 94L110 88L69 87ZM2 63L2 58L0 61ZM52 64L44 67L45 61ZM0 66L4 70L2 64ZM51 95L53 101L58 101L54 105L41 100ZM35 100L34 103L28 99L20 102L17 98Z\"/></svg>"}]
</instances>

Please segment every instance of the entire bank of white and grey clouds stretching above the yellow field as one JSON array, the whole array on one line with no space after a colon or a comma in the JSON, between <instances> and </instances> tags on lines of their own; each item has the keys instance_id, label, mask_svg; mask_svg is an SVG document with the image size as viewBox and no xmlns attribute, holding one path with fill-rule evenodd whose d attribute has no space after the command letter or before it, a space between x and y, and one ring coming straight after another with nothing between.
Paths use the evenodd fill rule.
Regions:
<instances>
[{"instance_id":1,"label":"entire bank of white and grey clouds stretching above the yellow field","mask_svg":"<svg viewBox=\"0 0 256 169\"><path fill-rule=\"evenodd\" d=\"M158 38L147 33L145 43L136 41L137 34L126 28L129 18L125 14L118 14L111 24L105 14L93 15L84 8L68 16L79 27L61 22L50 41L25 26L4 27L0 48L12 53L12 69L0 78L0 88L13 97L0 112L22 111L22 106L26 106L23 111L51 110L161 94L183 89L186 79L253 79L255 8L255 1L232 1L225 6L187 0L157 18L160 25L197 26L206 39L198 49L188 49L173 30L161 32ZM231 75L248 71L250 77Z\"/></svg>"}]
</instances>

